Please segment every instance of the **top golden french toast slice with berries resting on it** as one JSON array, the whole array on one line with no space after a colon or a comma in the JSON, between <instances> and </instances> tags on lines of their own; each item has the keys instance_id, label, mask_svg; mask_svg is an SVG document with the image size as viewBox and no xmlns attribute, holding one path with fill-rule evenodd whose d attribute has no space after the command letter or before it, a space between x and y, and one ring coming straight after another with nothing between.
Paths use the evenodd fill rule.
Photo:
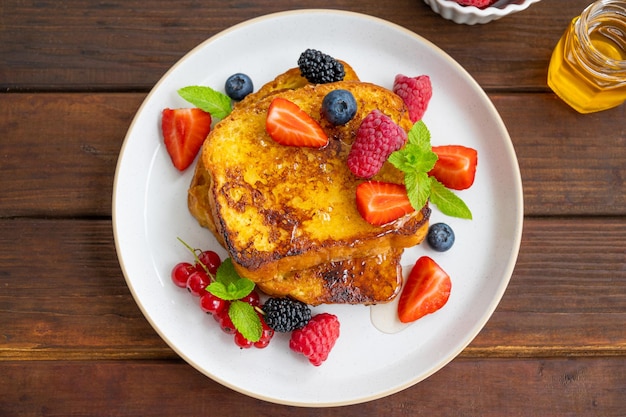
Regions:
<instances>
[{"instance_id":1,"label":"top golden french toast slice with berries resting on it","mask_svg":"<svg viewBox=\"0 0 626 417\"><path fill-rule=\"evenodd\" d=\"M323 97L336 88L350 90L358 103L357 115L345 126L332 126L320 116ZM265 115L276 96L320 121L329 144L310 149L275 143L265 132ZM350 81L273 90L236 106L214 128L203 146L189 207L214 232L242 276L260 285L274 281L278 287L277 277L292 274L295 279L325 264L421 242L428 209L382 227L369 225L356 210L355 189L362 180L350 173L345 160L360 121L375 108L410 129L398 96ZM374 179L401 183L403 174L385 164Z\"/></svg>"}]
</instances>

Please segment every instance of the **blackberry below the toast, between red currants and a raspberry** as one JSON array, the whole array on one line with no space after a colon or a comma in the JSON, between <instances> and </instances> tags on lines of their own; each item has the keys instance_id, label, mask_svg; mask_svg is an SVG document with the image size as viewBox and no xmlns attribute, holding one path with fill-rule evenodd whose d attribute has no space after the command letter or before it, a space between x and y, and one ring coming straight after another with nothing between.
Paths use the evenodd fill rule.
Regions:
<instances>
[{"instance_id":1,"label":"blackberry below the toast, between red currants and a raspberry","mask_svg":"<svg viewBox=\"0 0 626 417\"><path fill-rule=\"evenodd\" d=\"M311 309L291 298L270 298L263 305L265 323L273 330L288 333L304 327L311 320Z\"/></svg>"}]
</instances>

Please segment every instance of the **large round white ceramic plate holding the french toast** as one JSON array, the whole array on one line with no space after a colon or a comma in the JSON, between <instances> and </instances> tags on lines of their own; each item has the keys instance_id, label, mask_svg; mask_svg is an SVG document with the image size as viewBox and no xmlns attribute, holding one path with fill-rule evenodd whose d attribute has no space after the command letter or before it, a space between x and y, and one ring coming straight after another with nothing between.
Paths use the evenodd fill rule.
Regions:
<instances>
[{"instance_id":1,"label":"large round white ceramic plate holding the french toast","mask_svg":"<svg viewBox=\"0 0 626 417\"><path fill-rule=\"evenodd\" d=\"M258 87L296 66L306 48L351 64L364 81L391 88L397 73L428 74L434 94L424 121L434 145L478 150L474 186L459 193L473 221L432 222L455 230L444 254L426 245L410 249L405 270L432 256L452 277L448 304L401 332L383 333L365 306L320 306L339 316L341 337L328 360L314 367L277 335L266 349L240 350L232 336L201 312L198 300L170 281L173 265L190 254L176 240L215 249L210 232L186 206L193 168L180 174L162 144L164 107L189 107L180 87L221 89L245 72ZM407 388L456 357L478 334L511 277L522 232L522 186L513 146L494 106L454 60L420 36L389 22L331 10L260 17L226 30L189 52L158 82L133 120L120 153L113 192L113 226L121 267L143 314L159 335L200 372L236 391L298 406L335 406L380 398ZM389 310L392 307L387 307ZM384 309L383 309L384 313Z\"/></svg>"}]
</instances>

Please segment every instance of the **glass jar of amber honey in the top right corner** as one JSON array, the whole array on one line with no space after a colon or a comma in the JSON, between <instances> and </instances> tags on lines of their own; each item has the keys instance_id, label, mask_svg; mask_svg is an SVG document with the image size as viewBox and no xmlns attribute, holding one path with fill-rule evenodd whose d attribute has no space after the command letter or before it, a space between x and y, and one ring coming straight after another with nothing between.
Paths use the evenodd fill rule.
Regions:
<instances>
[{"instance_id":1,"label":"glass jar of amber honey in the top right corner","mask_svg":"<svg viewBox=\"0 0 626 417\"><path fill-rule=\"evenodd\" d=\"M626 1L597 1L572 20L552 53L548 86L580 113L626 101Z\"/></svg>"}]
</instances>

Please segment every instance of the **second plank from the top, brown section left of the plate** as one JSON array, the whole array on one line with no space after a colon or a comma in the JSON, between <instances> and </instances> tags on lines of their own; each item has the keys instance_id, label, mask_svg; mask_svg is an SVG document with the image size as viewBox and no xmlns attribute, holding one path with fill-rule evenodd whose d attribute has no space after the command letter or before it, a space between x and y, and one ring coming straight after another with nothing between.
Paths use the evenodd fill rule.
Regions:
<instances>
[{"instance_id":1,"label":"second plank from the top, brown section left of the plate","mask_svg":"<svg viewBox=\"0 0 626 417\"><path fill-rule=\"evenodd\" d=\"M0 129L10 138L0 142L0 217L110 216L117 157L144 97L0 95Z\"/></svg>"}]
</instances>

